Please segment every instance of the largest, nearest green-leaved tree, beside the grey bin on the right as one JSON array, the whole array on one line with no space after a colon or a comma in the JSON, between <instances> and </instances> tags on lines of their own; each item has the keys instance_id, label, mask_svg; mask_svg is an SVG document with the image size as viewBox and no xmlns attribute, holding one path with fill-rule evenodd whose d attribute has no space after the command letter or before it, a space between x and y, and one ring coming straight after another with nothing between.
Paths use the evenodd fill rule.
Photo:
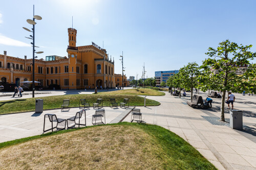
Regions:
<instances>
[{"instance_id":1,"label":"largest, nearest green-leaved tree, beside the grey bin on the right","mask_svg":"<svg viewBox=\"0 0 256 170\"><path fill-rule=\"evenodd\" d=\"M243 76L237 74L239 65L250 64L256 53L249 51L252 45L238 45L237 43L225 40L219 43L217 49L209 47L208 59L203 61L201 68L204 69L206 79L214 82L217 89L222 93L221 120L225 121L224 106L226 91L237 91L243 85ZM251 68L246 69L246 75L251 72ZM248 74L247 74L248 73ZM241 90L241 88L240 88Z\"/></svg>"}]
</instances>

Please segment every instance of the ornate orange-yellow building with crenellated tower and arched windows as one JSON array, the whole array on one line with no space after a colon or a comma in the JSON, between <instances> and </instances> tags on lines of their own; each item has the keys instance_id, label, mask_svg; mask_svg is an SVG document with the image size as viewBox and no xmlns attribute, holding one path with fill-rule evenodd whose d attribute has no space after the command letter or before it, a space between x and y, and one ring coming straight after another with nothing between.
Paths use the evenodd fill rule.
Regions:
<instances>
[{"instance_id":1,"label":"ornate orange-yellow building with crenellated tower and arched windows","mask_svg":"<svg viewBox=\"0 0 256 170\"><path fill-rule=\"evenodd\" d=\"M46 60L35 59L35 81L49 87L57 84L61 89L115 88L114 61L106 50L96 44L76 46L77 30L68 29L68 57L47 56ZM16 83L32 81L32 59L0 55L0 79Z\"/></svg>"}]
</instances>

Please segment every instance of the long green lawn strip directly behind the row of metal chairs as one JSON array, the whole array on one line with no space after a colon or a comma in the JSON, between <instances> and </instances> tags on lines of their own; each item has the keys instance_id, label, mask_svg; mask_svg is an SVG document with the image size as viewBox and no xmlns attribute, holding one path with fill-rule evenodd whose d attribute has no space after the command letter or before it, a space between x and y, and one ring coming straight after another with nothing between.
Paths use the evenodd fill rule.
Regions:
<instances>
[{"instance_id":1,"label":"long green lawn strip directly behind the row of metal chairs","mask_svg":"<svg viewBox=\"0 0 256 170\"><path fill-rule=\"evenodd\" d=\"M68 94L68 95L54 95L41 98L17 99L9 101L0 101L0 114L26 112L35 110L35 99L44 99L44 110L60 108L63 99L70 99L71 107L79 107L79 100L86 99L90 106L96 103L97 99L103 99L103 106L109 106L109 99L115 98L119 104L123 102L124 98L130 100L130 106L144 106L144 98L136 95L116 95L116 94ZM146 106L157 106L159 102L146 99Z\"/></svg>"}]
</instances>

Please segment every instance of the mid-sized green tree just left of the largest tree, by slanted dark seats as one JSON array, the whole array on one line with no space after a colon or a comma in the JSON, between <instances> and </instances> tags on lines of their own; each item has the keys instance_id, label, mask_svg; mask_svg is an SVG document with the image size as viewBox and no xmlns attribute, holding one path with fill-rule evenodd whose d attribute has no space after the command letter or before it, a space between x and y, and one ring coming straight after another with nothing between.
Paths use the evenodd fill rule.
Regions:
<instances>
[{"instance_id":1,"label":"mid-sized green tree just left of the largest tree, by slanted dark seats","mask_svg":"<svg viewBox=\"0 0 256 170\"><path fill-rule=\"evenodd\" d=\"M191 90L191 101L193 98L193 88L198 85L198 76L200 75L200 67L196 62L188 63L180 69L180 75L182 78L182 87Z\"/></svg>"}]
</instances>

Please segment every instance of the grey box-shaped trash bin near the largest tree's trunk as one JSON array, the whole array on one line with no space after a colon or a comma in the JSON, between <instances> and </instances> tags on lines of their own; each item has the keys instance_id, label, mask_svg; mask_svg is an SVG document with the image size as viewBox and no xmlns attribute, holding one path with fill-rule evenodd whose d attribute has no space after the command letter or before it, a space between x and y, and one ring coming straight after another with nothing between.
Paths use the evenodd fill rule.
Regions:
<instances>
[{"instance_id":1,"label":"grey box-shaped trash bin near the largest tree's trunk","mask_svg":"<svg viewBox=\"0 0 256 170\"><path fill-rule=\"evenodd\" d=\"M243 111L229 110L230 113L230 128L243 129Z\"/></svg>"}]
</instances>

